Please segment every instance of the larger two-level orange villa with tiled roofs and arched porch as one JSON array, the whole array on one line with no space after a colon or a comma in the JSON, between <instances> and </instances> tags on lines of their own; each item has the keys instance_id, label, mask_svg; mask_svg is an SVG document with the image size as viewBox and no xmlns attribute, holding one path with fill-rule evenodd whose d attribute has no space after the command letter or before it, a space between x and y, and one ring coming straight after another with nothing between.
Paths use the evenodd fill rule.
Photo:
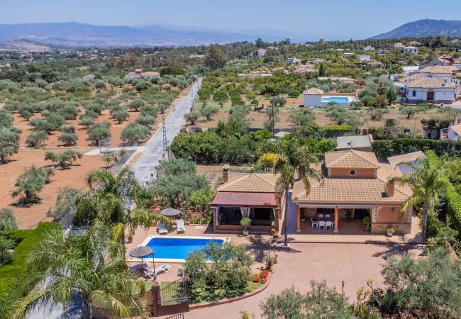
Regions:
<instances>
[{"instance_id":1,"label":"larger two-level orange villa with tiled roofs and arched porch","mask_svg":"<svg viewBox=\"0 0 461 319\"><path fill-rule=\"evenodd\" d=\"M325 217L334 233L353 233L363 229L366 216L371 217L372 233L386 233L388 227L396 233L411 232L411 208L400 214L411 189L386 186L388 179L401 176L396 165L379 163L373 152L347 150L326 152L322 170L326 177L312 181L309 192L301 181L295 183L296 232L309 233ZM304 225L301 218L308 219Z\"/></svg>"}]
</instances>

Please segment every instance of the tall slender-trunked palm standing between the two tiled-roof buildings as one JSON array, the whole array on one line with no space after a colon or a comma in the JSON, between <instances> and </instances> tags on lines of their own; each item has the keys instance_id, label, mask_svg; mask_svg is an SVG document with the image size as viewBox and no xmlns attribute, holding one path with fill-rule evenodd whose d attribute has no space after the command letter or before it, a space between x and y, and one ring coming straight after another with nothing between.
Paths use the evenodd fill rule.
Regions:
<instances>
[{"instance_id":1,"label":"tall slender-trunked palm standing between the two tiled-roof buildings","mask_svg":"<svg viewBox=\"0 0 461 319\"><path fill-rule=\"evenodd\" d=\"M294 150L294 151L290 151ZM284 235L285 242L284 247L288 246L288 199L289 189L293 187L296 180L302 180L306 192L309 193L311 190L311 178L320 180L322 175L316 169L311 167L311 164L318 162L318 156L309 152L306 146L301 147L289 147L288 150L284 150L281 153L266 153L260 157L258 164L262 168L270 167L274 174L280 174L275 184L275 192L279 201L282 196L285 198L285 223L284 223Z\"/></svg>"}]
</instances>

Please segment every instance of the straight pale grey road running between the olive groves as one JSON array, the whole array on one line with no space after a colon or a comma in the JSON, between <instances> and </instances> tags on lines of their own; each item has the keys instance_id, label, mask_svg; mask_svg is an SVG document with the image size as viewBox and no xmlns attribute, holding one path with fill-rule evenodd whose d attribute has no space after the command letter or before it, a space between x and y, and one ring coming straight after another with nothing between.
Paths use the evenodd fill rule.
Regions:
<instances>
[{"instance_id":1,"label":"straight pale grey road running between the olive groves","mask_svg":"<svg viewBox=\"0 0 461 319\"><path fill-rule=\"evenodd\" d=\"M201 79L191 86L189 93L180 99L174 106L174 111L166 119L167 127L167 146L170 146L174 137L179 133L181 126L184 123L184 115L189 113L192 100L196 96L197 91L201 86ZM155 171L155 167L162 159L163 153L163 132L162 125L150 140L145 145L144 152L140 155L136 163L133 165L135 177L141 184L150 179L150 173Z\"/></svg>"}]
</instances>

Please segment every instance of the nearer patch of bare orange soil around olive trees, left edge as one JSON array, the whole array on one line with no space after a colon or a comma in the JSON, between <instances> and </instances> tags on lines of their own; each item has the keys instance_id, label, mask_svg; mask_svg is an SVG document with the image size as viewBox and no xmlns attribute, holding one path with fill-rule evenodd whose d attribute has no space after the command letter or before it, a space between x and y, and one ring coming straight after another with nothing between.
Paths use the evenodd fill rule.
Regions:
<instances>
[{"instance_id":1,"label":"nearer patch of bare orange soil around olive trees, left edge","mask_svg":"<svg viewBox=\"0 0 461 319\"><path fill-rule=\"evenodd\" d=\"M85 178L91 169L105 166L101 157L84 156L78 159L70 169L55 168L55 175L51 177L51 183L47 184L38 194L41 198L40 203L28 207L14 206L17 198L11 198L10 193L15 188L14 183L19 174L32 164L38 167L52 164L50 161L45 161L44 157L45 150L20 150L13 156L13 162L0 165L0 208L9 207L15 211L19 228L34 228L40 221L48 220L46 212L55 205L59 189L65 186L83 189Z\"/></svg>"}]
</instances>

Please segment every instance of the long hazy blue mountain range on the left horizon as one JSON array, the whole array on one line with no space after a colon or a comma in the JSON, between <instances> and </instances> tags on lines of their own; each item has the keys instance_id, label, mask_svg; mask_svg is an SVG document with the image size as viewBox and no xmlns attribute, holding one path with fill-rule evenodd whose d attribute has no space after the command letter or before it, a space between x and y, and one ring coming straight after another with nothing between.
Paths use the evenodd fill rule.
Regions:
<instances>
[{"instance_id":1,"label":"long hazy blue mountain range on the left horizon","mask_svg":"<svg viewBox=\"0 0 461 319\"><path fill-rule=\"evenodd\" d=\"M267 41L286 38L215 30L173 30L162 26L95 26L78 22L0 24L0 43L28 39L47 45L66 47L207 45L254 41L258 37Z\"/></svg>"}]
</instances>

